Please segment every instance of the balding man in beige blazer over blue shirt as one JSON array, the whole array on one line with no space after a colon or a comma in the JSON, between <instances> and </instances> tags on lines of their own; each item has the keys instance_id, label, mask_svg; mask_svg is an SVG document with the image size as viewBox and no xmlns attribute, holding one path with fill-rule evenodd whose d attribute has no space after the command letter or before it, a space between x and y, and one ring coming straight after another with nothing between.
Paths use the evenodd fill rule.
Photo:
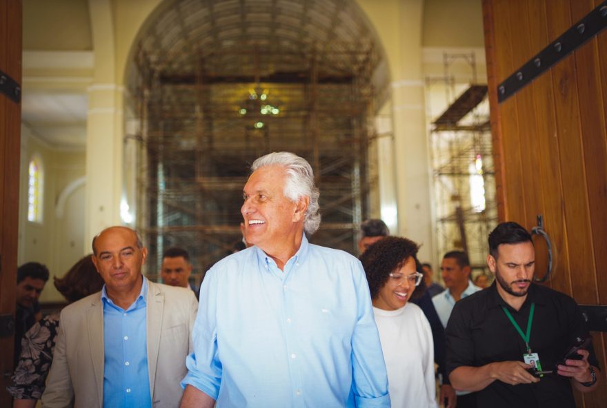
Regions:
<instances>
[{"instance_id":1,"label":"balding man in beige blazer over blue shirt","mask_svg":"<svg viewBox=\"0 0 607 408\"><path fill-rule=\"evenodd\" d=\"M141 349L139 353L141 361L123 363L126 366L123 371L147 364L147 376L135 383L137 387L149 382L149 390L148 387L143 389L144 400L151 402L152 407L177 407L182 394L179 382L188 371L186 356L192 351L190 332L198 309L194 293L182 287L152 283L141 275L147 250L130 228L103 230L93 239L93 252L93 262L106 285L102 292L72 303L61 312L53 363L42 396L43 407L103 408L112 405L113 408L132 404L128 398L137 393L117 395L131 393L131 385L122 387L121 375L115 375L121 374L121 370L106 366L116 364L123 354L126 356L120 347L106 348L104 338L108 338L108 333L112 333L112 340L117 340L114 344L120 344L124 339L145 345L145 352ZM146 337L137 338L139 334L131 334L131 338L123 336L121 325L108 332L111 324L108 322L116 321L108 320L108 304L114 313L121 311L118 318L122 312L127 316L135 309L145 313L139 315L142 316L139 323L145 325L141 334ZM132 344L135 343L129 343ZM115 400L104 402L104 385L108 389L112 387L109 395L108 389L105 390L106 398L118 396L119 404ZM115 389L119 392L113 392ZM137 391L142 392L141 388Z\"/></svg>"}]
</instances>

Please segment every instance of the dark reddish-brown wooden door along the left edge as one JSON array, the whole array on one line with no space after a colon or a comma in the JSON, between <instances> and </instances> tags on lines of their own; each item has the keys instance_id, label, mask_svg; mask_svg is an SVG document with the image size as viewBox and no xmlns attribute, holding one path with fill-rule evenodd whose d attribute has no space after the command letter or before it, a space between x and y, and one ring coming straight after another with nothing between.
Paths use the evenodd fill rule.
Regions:
<instances>
[{"instance_id":1,"label":"dark reddish-brown wooden door along the left edge","mask_svg":"<svg viewBox=\"0 0 607 408\"><path fill-rule=\"evenodd\" d=\"M0 71L21 83L21 0L0 1ZM0 92L0 315L14 314L21 104ZM6 322L6 320L3 320ZM13 336L0 337L0 407L10 407Z\"/></svg>"}]
</instances>

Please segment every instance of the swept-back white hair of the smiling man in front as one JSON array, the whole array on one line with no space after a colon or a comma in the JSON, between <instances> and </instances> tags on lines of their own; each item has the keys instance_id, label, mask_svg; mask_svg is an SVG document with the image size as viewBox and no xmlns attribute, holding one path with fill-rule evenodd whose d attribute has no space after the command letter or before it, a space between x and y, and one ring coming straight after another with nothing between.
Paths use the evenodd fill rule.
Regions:
<instances>
[{"instance_id":1,"label":"swept-back white hair of the smiling man in front","mask_svg":"<svg viewBox=\"0 0 607 408\"><path fill-rule=\"evenodd\" d=\"M312 166L310 163L303 159L297 154L290 152L274 152L266 154L265 156L259 157L253 162L251 166L251 172L259 169L259 167L265 167L269 165L275 165L285 167L288 174L287 181L285 183L283 194L297 203L299 198L306 196L310 198L308 204L308 210L304 216L304 230L308 235L312 235L317 232L320 225L320 212L318 205L318 198L320 192L314 185L314 172L312 172Z\"/></svg>"}]
</instances>

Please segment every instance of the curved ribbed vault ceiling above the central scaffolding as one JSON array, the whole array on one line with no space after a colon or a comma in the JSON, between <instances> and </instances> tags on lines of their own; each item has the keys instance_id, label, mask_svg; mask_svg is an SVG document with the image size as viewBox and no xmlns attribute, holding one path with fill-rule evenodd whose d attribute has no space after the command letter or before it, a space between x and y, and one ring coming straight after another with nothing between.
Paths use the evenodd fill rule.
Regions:
<instances>
[{"instance_id":1,"label":"curved ribbed vault ceiling above the central scaffolding","mask_svg":"<svg viewBox=\"0 0 607 408\"><path fill-rule=\"evenodd\" d=\"M139 33L140 66L164 81L304 82L316 69L319 82L372 77L377 92L383 54L352 0L167 1Z\"/></svg>"}]
</instances>

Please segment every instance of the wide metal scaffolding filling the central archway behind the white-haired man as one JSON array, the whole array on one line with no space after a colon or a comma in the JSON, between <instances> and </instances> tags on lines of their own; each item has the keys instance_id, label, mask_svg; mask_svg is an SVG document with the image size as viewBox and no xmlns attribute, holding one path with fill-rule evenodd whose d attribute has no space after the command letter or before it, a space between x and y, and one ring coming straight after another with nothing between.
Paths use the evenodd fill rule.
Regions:
<instances>
[{"instance_id":1,"label":"wide metal scaffolding filling the central archway behind the white-haired man","mask_svg":"<svg viewBox=\"0 0 607 408\"><path fill-rule=\"evenodd\" d=\"M374 99L385 93L373 83L381 60L373 41L294 49L241 38L179 50L159 50L158 41L141 41L131 74L148 276L168 247L187 249L201 272L232 252L250 164L268 152L312 164L322 223L311 241L355 254L375 183L367 165Z\"/></svg>"}]
</instances>

